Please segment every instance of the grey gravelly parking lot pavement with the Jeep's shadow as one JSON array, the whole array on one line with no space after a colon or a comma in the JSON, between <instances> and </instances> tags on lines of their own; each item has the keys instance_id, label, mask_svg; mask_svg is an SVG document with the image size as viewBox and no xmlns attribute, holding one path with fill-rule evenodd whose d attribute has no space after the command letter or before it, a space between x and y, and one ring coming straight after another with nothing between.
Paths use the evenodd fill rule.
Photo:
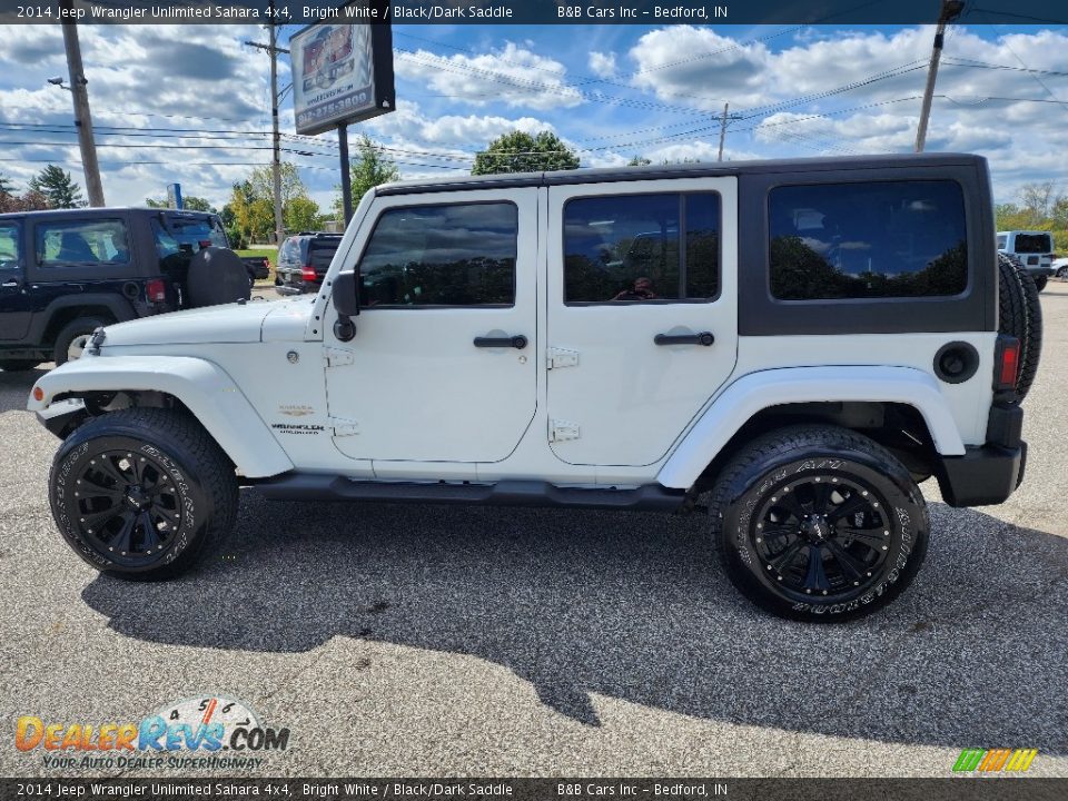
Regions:
<instances>
[{"instance_id":1,"label":"grey gravelly parking lot pavement with the Jeep's shadow","mask_svg":"<svg viewBox=\"0 0 1068 801\"><path fill-rule=\"evenodd\" d=\"M699 515L245 491L197 573L101 577L48 511L36 374L0 373L0 774L119 772L46 768L13 748L20 715L138 721L221 693L289 728L266 775L948 777L962 748L1036 748L1031 774L1068 775L1068 284L1042 307L1022 487L951 510L926 484L916 584L837 626L756 612Z\"/></svg>"}]
</instances>

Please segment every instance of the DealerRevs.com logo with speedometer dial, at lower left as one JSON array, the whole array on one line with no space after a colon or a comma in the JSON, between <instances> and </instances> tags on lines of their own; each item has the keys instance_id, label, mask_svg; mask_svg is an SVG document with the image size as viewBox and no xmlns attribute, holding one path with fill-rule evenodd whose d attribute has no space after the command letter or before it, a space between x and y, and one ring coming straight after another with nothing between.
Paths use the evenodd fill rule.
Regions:
<instances>
[{"instance_id":1,"label":"DealerRevs.com logo with speedometer dial, at lower left","mask_svg":"<svg viewBox=\"0 0 1068 801\"><path fill-rule=\"evenodd\" d=\"M285 751L289 730L265 726L240 701L208 694L167 704L138 722L98 724L22 715L14 746L46 768L259 768Z\"/></svg>"}]
</instances>

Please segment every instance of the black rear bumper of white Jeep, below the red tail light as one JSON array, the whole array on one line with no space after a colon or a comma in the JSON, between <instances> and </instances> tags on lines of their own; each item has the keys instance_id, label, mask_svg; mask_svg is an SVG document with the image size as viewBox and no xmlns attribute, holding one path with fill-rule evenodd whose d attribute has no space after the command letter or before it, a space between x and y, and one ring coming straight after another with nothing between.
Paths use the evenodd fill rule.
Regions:
<instances>
[{"instance_id":1,"label":"black rear bumper of white Jeep, below the red tail light","mask_svg":"<svg viewBox=\"0 0 1068 801\"><path fill-rule=\"evenodd\" d=\"M938 486L950 506L1003 503L1024 481L1027 443L1020 438L1024 409L997 402L990 408L987 444L963 456L942 456L936 465Z\"/></svg>"}]
</instances>

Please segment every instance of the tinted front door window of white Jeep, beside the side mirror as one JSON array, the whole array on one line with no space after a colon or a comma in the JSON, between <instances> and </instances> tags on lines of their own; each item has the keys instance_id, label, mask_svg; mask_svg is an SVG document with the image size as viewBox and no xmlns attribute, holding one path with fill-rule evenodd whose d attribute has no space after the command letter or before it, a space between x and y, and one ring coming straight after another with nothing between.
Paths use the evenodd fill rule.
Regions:
<instances>
[{"instance_id":1,"label":"tinted front door window of white Jeep, beside the side mirror","mask_svg":"<svg viewBox=\"0 0 1068 801\"><path fill-rule=\"evenodd\" d=\"M378 218L359 263L368 306L515 301L518 210L512 204L405 206Z\"/></svg>"}]
</instances>

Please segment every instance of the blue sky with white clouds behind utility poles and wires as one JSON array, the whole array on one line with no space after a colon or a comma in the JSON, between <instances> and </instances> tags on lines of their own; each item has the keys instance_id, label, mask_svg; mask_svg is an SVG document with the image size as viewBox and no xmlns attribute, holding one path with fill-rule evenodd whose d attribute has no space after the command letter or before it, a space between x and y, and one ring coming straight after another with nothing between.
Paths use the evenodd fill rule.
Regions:
<instances>
[{"instance_id":1,"label":"blue sky with white clouds behind utility poles and wires","mask_svg":"<svg viewBox=\"0 0 1068 801\"><path fill-rule=\"evenodd\" d=\"M283 40L296 32L283 32ZM398 108L354 126L404 177L464 174L514 128L550 129L583 167L725 157L911 150L933 29L920 26L397 26ZM20 186L47 161L83 182L58 27L8 26L0 52L0 172ZM269 161L267 57L241 44L256 27L81 28L103 184L112 205L186 194L226 201ZM283 86L288 65L283 65ZM1026 182L1068 191L1068 28L955 26L947 37L929 150L990 159L995 192ZM333 134L284 147L328 208L338 181ZM105 147L107 146L107 147Z\"/></svg>"}]
</instances>

